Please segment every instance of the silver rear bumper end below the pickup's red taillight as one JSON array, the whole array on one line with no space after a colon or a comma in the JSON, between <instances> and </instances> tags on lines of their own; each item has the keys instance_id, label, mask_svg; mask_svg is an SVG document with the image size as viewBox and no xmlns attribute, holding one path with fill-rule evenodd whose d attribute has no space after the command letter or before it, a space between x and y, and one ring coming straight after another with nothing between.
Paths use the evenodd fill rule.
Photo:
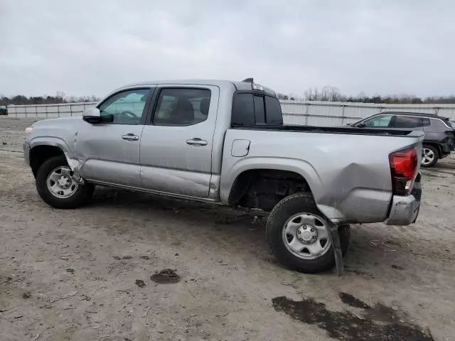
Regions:
<instances>
[{"instance_id":1,"label":"silver rear bumper end below the pickup's red taillight","mask_svg":"<svg viewBox=\"0 0 455 341\"><path fill-rule=\"evenodd\" d=\"M409 225L415 222L417 215L419 215L421 196L420 175L417 175L410 195L394 195L392 197L392 207L387 219L387 225Z\"/></svg>"}]
</instances>

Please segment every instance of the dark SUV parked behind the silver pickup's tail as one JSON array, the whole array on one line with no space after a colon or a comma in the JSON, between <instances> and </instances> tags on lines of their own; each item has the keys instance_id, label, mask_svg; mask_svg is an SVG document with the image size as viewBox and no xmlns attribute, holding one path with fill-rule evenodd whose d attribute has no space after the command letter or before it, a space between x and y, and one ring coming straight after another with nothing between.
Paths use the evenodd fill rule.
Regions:
<instances>
[{"instance_id":1,"label":"dark SUV parked behind the silver pickup's tail","mask_svg":"<svg viewBox=\"0 0 455 341\"><path fill-rule=\"evenodd\" d=\"M417 112L381 112L351 126L368 129L420 130L425 132L422 167L433 167L455 149L455 130L446 117Z\"/></svg>"}]
</instances>

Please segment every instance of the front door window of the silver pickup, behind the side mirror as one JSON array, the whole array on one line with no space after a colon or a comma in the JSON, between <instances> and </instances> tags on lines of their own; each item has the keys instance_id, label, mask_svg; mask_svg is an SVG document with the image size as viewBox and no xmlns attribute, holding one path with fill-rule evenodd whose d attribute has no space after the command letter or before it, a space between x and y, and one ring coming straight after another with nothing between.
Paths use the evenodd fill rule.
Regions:
<instances>
[{"instance_id":1,"label":"front door window of the silver pickup, behind the side mirror","mask_svg":"<svg viewBox=\"0 0 455 341\"><path fill-rule=\"evenodd\" d=\"M113 124L139 124L149 92L149 89L136 89L114 94L100 105L101 117Z\"/></svg>"}]
</instances>

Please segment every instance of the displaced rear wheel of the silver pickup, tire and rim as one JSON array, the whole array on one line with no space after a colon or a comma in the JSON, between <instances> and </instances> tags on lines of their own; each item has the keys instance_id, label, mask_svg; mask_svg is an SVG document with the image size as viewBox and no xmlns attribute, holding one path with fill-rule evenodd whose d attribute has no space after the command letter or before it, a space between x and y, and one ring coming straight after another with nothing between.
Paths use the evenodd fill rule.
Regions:
<instances>
[{"instance_id":1,"label":"displaced rear wheel of the silver pickup, tire and rim","mask_svg":"<svg viewBox=\"0 0 455 341\"><path fill-rule=\"evenodd\" d=\"M335 266L330 229L309 193L296 193L278 202L267 221L267 242L280 263L315 274ZM350 244L348 224L338 228L343 255Z\"/></svg>"}]
</instances>

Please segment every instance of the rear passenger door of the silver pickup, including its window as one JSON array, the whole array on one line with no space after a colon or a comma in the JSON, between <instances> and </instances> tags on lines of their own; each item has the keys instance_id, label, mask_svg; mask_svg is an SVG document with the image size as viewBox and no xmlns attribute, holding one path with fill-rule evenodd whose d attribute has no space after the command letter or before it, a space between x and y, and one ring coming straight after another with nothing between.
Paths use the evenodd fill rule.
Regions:
<instances>
[{"instance_id":1,"label":"rear passenger door of the silver pickup, including its window","mask_svg":"<svg viewBox=\"0 0 455 341\"><path fill-rule=\"evenodd\" d=\"M156 90L154 112L141 137L144 188L208 197L219 92L209 85Z\"/></svg>"}]
</instances>

